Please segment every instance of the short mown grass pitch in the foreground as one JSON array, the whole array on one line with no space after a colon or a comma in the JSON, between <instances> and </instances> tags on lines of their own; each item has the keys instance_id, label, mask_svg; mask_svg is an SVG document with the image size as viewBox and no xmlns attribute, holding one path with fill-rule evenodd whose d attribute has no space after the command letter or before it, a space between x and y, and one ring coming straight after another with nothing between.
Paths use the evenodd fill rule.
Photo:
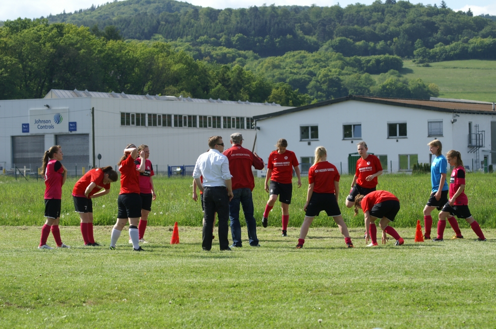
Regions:
<instances>
[{"instance_id":1,"label":"short mown grass pitch in the foreground","mask_svg":"<svg viewBox=\"0 0 496 329\"><path fill-rule=\"evenodd\" d=\"M494 328L495 230L488 242L413 242L414 229L363 248L363 229L344 248L337 228L298 228L281 238L259 228L260 248L202 252L198 227L150 227L145 252L127 233L117 250L82 247L78 227L62 227L70 250L37 250L39 227L0 226L1 328ZM110 226L95 229L110 239ZM449 227L446 236L450 236ZM246 230L243 230L246 239ZM49 243L53 245L50 236ZM318 319L322 319L319 325Z\"/></svg>"}]
</instances>

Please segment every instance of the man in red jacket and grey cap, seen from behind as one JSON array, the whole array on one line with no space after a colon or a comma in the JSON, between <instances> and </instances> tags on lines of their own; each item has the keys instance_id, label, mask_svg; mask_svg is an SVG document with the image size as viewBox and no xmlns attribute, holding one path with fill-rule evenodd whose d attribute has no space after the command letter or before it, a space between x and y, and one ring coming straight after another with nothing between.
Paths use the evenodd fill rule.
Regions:
<instances>
[{"instance_id":1,"label":"man in red jacket and grey cap, seen from behind","mask_svg":"<svg viewBox=\"0 0 496 329\"><path fill-rule=\"evenodd\" d=\"M256 221L253 217L253 199L251 191L255 187L255 180L251 171L253 165L255 169L263 169L263 160L250 150L245 149L243 136L240 133L231 135L233 147L224 151L224 155L229 160L229 171L233 175L233 199L229 202L229 217L231 219L231 234L233 236L232 247L243 247L241 242L240 224L240 203L243 205L243 213L247 222L248 242L252 247L259 247L256 237Z\"/></svg>"}]
</instances>

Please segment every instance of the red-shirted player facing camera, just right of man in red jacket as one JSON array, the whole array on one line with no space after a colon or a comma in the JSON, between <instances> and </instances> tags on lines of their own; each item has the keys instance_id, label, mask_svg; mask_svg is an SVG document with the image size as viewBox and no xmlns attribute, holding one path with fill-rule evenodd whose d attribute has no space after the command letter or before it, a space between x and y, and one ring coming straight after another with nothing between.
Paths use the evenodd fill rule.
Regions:
<instances>
[{"instance_id":1,"label":"red-shirted player facing camera, just right of man in red jacket","mask_svg":"<svg viewBox=\"0 0 496 329\"><path fill-rule=\"evenodd\" d=\"M294 152L286 150L287 147L288 142L281 138L277 141L277 150L269 155L267 175L265 176L265 191L269 193L269 201L267 201L262 217L262 225L267 227L269 212L274 207L279 195L282 209L282 236L288 236L289 205L293 194L293 167L298 177L298 188L302 187L298 159Z\"/></svg>"}]
</instances>

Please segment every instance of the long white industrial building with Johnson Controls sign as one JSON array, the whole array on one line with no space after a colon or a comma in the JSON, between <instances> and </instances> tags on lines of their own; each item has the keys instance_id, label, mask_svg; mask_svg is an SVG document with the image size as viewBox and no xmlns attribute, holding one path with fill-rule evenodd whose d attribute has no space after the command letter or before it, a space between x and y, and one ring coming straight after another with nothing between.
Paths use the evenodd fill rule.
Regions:
<instances>
[{"instance_id":1,"label":"long white industrial building with Johnson Controls sign","mask_svg":"<svg viewBox=\"0 0 496 329\"><path fill-rule=\"evenodd\" d=\"M243 133L252 149L254 115L286 110L277 104L171 96L51 90L43 99L0 101L0 167L35 172L43 153L61 145L69 174L116 165L128 143L150 147L154 168L194 165L210 136L228 146ZM92 113L94 115L92 116ZM101 155L101 160L98 160Z\"/></svg>"}]
</instances>

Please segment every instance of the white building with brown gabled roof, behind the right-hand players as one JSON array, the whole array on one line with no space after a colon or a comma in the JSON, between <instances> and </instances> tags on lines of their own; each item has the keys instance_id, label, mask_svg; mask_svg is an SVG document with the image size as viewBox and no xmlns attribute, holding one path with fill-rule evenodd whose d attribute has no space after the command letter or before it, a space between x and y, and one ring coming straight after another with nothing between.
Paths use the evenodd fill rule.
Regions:
<instances>
[{"instance_id":1,"label":"white building with brown gabled roof, behind the right-hand players","mask_svg":"<svg viewBox=\"0 0 496 329\"><path fill-rule=\"evenodd\" d=\"M388 172L411 171L431 163L427 144L442 142L442 152L460 151L470 170L496 163L496 111L493 103L431 99L347 96L308 106L254 116L257 150L267 160L279 138L288 141L302 164L312 162L317 146L342 173L354 172L356 144L366 141ZM495 148L492 149L492 145ZM302 171L309 165L304 165Z\"/></svg>"}]
</instances>

